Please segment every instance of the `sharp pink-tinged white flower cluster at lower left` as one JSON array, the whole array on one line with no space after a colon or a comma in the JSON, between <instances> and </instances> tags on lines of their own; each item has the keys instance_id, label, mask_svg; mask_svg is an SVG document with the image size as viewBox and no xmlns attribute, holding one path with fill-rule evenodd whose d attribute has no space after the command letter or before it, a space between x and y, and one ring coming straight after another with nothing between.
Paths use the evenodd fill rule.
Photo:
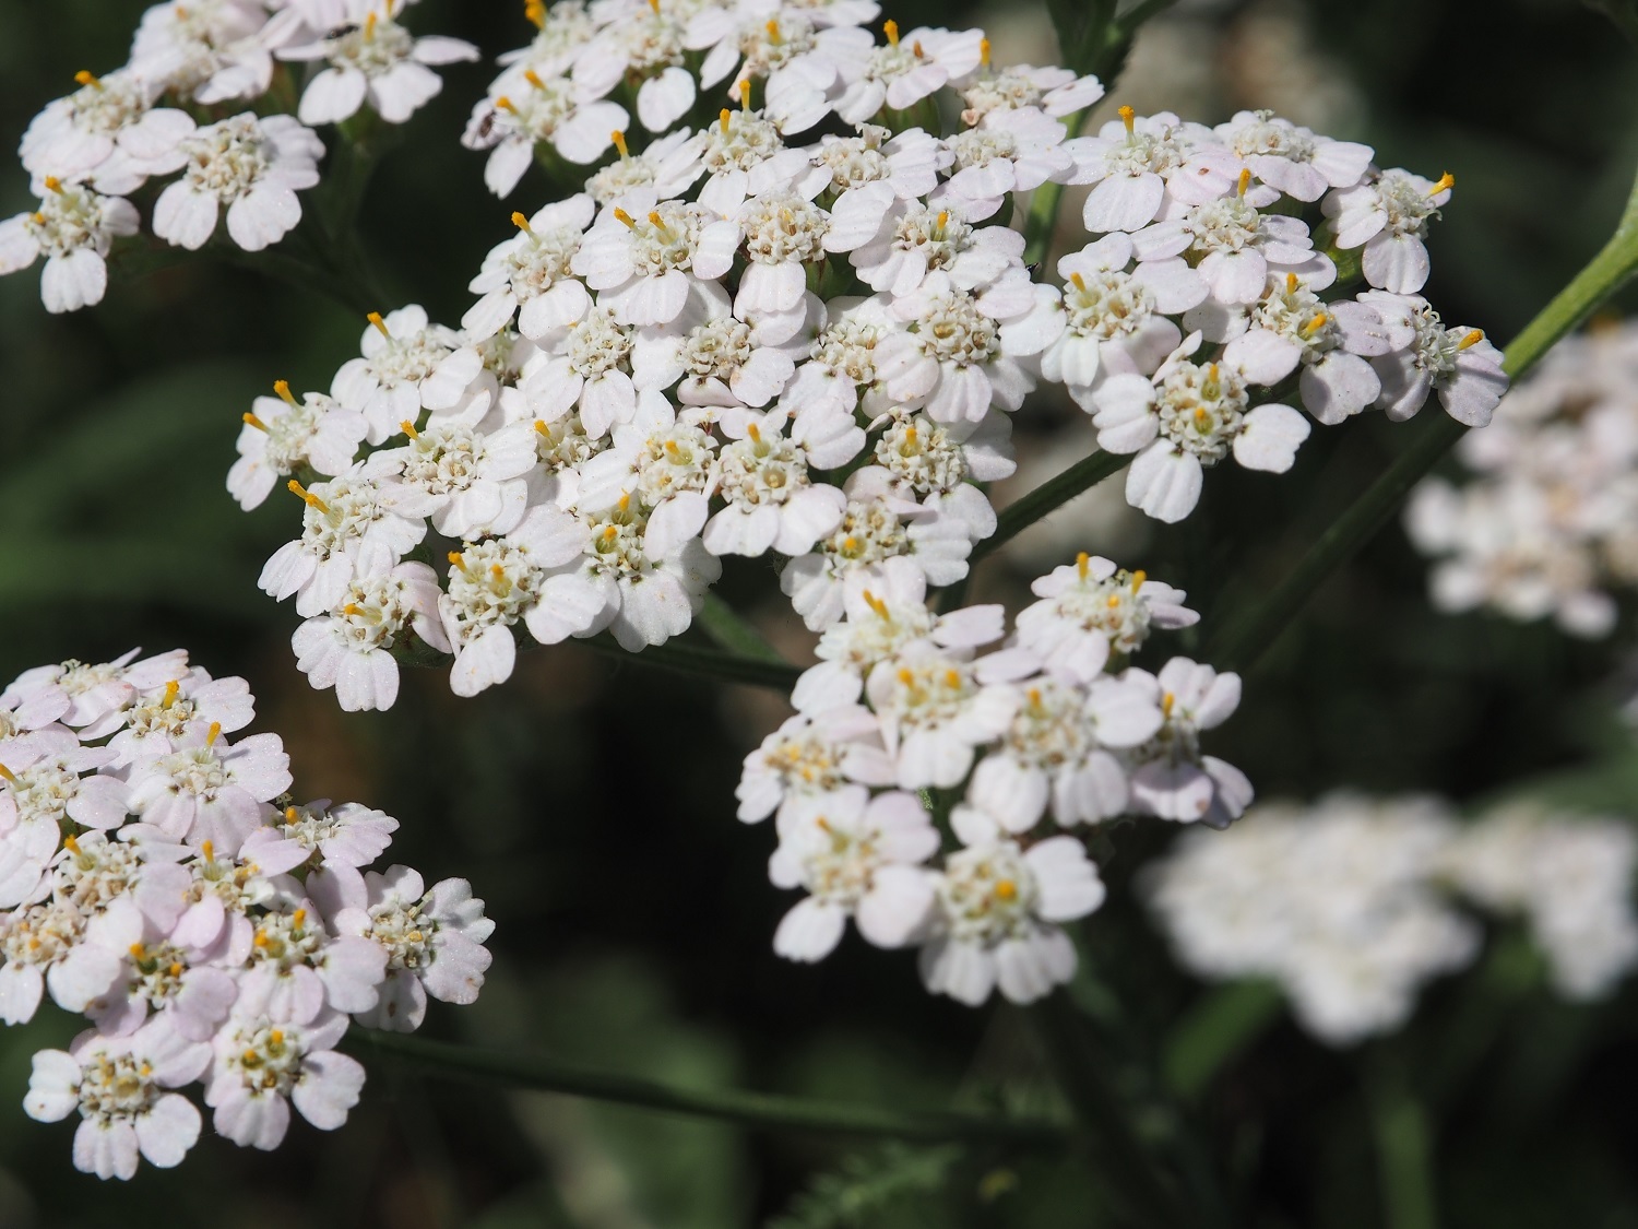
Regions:
<instances>
[{"instance_id":1,"label":"sharp pink-tinged white flower cluster at lower left","mask_svg":"<svg viewBox=\"0 0 1638 1229\"><path fill-rule=\"evenodd\" d=\"M129 1178L215 1129L274 1149L293 1104L339 1127L364 1068L349 1018L419 1027L431 995L470 1003L493 923L465 880L367 870L398 821L296 805L242 678L182 651L28 670L0 693L0 1019L41 1000L92 1027L34 1055L25 1108L79 1114L74 1163Z\"/></svg>"}]
</instances>

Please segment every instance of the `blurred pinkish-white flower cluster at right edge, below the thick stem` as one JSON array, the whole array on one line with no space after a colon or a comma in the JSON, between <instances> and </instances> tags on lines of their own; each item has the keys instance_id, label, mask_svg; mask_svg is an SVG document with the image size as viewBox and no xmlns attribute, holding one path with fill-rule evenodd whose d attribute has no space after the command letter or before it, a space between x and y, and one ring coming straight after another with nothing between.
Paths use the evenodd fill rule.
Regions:
<instances>
[{"instance_id":1,"label":"blurred pinkish-white flower cluster at right edge, below the thick stem","mask_svg":"<svg viewBox=\"0 0 1638 1229\"><path fill-rule=\"evenodd\" d=\"M1428 478L1405 513L1433 603L1607 636L1638 585L1638 328L1561 341L1458 456L1471 480Z\"/></svg>"}]
</instances>

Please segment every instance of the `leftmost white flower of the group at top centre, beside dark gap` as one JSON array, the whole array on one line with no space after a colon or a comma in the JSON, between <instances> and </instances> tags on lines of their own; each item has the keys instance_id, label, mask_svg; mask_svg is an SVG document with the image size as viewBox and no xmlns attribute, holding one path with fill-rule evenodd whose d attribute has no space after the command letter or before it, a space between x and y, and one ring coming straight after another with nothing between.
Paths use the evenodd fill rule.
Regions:
<instances>
[{"instance_id":1,"label":"leftmost white flower of the group at top centre, beside dark gap","mask_svg":"<svg viewBox=\"0 0 1638 1229\"><path fill-rule=\"evenodd\" d=\"M467 149L493 151L483 182L496 197L518 187L537 143L550 144L570 162L596 162L613 144L611 133L631 126L624 107L568 79L542 77L526 67L518 85L511 93L482 98L460 138Z\"/></svg>"}]
</instances>

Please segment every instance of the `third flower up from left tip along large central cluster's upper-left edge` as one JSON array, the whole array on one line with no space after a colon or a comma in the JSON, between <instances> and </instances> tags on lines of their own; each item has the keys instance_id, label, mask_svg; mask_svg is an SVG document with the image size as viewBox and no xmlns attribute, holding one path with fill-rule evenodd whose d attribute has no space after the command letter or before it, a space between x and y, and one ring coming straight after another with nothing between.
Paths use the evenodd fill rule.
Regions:
<instances>
[{"instance_id":1,"label":"third flower up from left tip along large central cluster's upper-left edge","mask_svg":"<svg viewBox=\"0 0 1638 1229\"><path fill-rule=\"evenodd\" d=\"M580 193L547 205L532 218L513 215L518 234L490 249L467 287L483 295L460 318L473 341L495 336L514 315L518 331L531 341L586 315L591 295L568 267L595 208L591 197Z\"/></svg>"}]
</instances>

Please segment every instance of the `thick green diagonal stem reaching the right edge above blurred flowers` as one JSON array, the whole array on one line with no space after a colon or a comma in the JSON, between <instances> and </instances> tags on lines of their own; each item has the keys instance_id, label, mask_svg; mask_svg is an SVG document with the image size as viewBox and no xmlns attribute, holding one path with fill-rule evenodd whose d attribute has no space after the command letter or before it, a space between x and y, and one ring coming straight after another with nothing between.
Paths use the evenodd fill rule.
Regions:
<instances>
[{"instance_id":1,"label":"thick green diagonal stem reaching the right edge above blurred flowers","mask_svg":"<svg viewBox=\"0 0 1638 1229\"><path fill-rule=\"evenodd\" d=\"M1514 338L1502 356L1512 379L1522 377L1568 333L1638 272L1638 184L1627 202L1615 234L1576 274L1553 302ZM1433 421L1394 462L1332 523L1309 552L1256 608L1230 618L1206 651L1219 669L1247 670L1279 639L1320 583L1348 562L1387 524L1405 493L1438 464L1468 428L1430 408Z\"/></svg>"}]
</instances>

